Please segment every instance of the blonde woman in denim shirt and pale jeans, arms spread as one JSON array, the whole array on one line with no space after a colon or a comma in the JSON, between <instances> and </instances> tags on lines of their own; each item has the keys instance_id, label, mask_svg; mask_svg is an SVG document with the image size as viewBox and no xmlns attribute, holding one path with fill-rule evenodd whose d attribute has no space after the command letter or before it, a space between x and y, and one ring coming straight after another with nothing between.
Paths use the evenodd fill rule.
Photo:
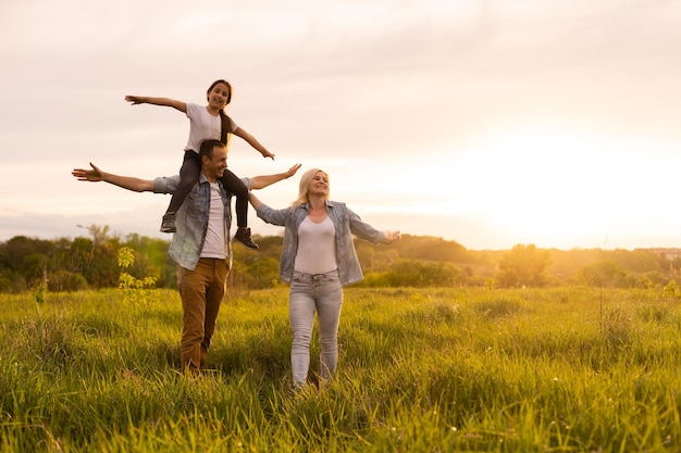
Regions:
<instances>
[{"instance_id":1,"label":"blonde woman in denim shirt and pale jeans, arms spread","mask_svg":"<svg viewBox=\"0 0 681 453\"><path fill-rule=\"evenodd\" d=\"M343 287L362 279L352 235L372 243L392 243L399 231L382 232L363 223L345 203L329 200L329 175L319 168L300 178L298 199L274 210L249 193L264 222L285 227L280 277L290 284L288 313L293 330L290 366L294 386L305 387L310 366L310 340L318 314L321 377L327 379L338 361L338 319Z\"/></svg>"}]
</instances>

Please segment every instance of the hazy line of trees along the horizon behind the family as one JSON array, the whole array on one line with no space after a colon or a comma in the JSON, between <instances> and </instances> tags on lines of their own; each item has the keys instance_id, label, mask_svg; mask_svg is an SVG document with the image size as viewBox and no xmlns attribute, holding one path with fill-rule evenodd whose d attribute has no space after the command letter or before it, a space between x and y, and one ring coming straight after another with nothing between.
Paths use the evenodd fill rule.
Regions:
<instances>
[{"instance_id":1,"label":"hazy line of trees along the horizon behind the family","mask_svg":"<svg viewBox=\"0 0 681 453\"><path fill-rule=\"evenodd\" d=\"M158 288L176 288L176 267L168 257L169 240L136 234L121 238L108 226L91 225L89 237L45 240L15 236L0 242L0 291L22 292L42 286L50 291L112 288L119 285L122 248L134 253L126 273L152 277ZM228 286L263 289L280 285L281 236L258 237L260 251L234 246ZM468 250L456 241L404 235L392 246L356 241L366 287L544 287L586 285L664 288L679 279L679 249ZM677 282L681 284L681 279Z\"/></svg>"}]
</instances>

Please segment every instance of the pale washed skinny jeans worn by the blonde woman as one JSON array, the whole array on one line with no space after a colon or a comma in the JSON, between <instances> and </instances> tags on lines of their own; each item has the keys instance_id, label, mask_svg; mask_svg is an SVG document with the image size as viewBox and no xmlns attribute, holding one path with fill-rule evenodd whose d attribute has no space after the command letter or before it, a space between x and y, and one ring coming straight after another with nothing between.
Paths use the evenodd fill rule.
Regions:
<instances>
[{"instance_id":1,"label":"pale washed skinny jeans worn by the blonde woman","mask_svg":"<svg viewBox=\"0 0 681 453\"><path fill-rule=\"evenodd\" d=\"M307 381L315 311L321 349L321 376L327 379L336 370L342 304L343 287L337 270L314 275L294 272L288 298L288 316L294 335L290 367L295 385L305 386Z\"/></svg>"}]
</instances>

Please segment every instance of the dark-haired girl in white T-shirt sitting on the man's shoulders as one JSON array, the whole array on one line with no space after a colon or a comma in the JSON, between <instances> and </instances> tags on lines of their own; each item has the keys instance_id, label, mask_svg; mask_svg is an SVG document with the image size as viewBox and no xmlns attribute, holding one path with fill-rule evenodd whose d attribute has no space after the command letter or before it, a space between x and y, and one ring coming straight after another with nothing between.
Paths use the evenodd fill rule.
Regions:
<instances>
[{"instance_id":1,"label":"dark-haired girl in white T-shirt sitting on the man's shoulders","mask_svg":"<svg viewBox=\"0 0 681 453\"><path fill-rule=\"evenodd\" d=\"M187 115L189 118L189 139L185 146L185 156L179 168L181 181L179 186L173 193L170 205L163 222L161 223L162 232L175 232L175 213L182 205L191 187L199 180L201 172L201 160L198 150L200 143L206 139L220 139L227 144L230 134L234 134L248 142L258 150L263 158L274 160L274 154L268 151L253 136L240 128L224 112L225 106L232 100L232 85L228 81L220 79L212 83L206 92L208 105L202 106L195 103L176 101L169 98L150 98L146 96L126 96L125 100L133 105L152 104L172 106ZM237 230L234 239L242 242L249 249L258 249L250 236L248 228L248 189L242 180L228 169L225 169L222 177L224 188L236 197L236 224Z\"/></svg>"}]
</instances>

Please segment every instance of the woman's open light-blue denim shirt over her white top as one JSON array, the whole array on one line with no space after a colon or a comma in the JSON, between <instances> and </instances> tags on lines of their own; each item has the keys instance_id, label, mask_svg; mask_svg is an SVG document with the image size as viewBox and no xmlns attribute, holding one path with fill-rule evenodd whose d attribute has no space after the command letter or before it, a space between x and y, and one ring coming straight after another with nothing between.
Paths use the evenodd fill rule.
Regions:
<instances>
[{"instance_id":1,"label":"woman's open light-blue denim shirt over her white top","mask_svg":"<svg viewBox=\"0 0 681 453\"><path fill-rule=\"evenodd\" d=\"M284 281L290 282L293 279L294 264L298 253L298 227L308 216L308 204L302 204L294 211L290 207L274 210L264 203L258 207L258 217L268 224L284 227L284 243L278 266L280 278ZM361 280L363 275L352 243L352 235L377 244L385 237L385 232L362 222L359 215L350 211L345 203L326 201L326 209L336 229L336 259L340 285L355 284Z\"/></svg>"}]
</instances>

